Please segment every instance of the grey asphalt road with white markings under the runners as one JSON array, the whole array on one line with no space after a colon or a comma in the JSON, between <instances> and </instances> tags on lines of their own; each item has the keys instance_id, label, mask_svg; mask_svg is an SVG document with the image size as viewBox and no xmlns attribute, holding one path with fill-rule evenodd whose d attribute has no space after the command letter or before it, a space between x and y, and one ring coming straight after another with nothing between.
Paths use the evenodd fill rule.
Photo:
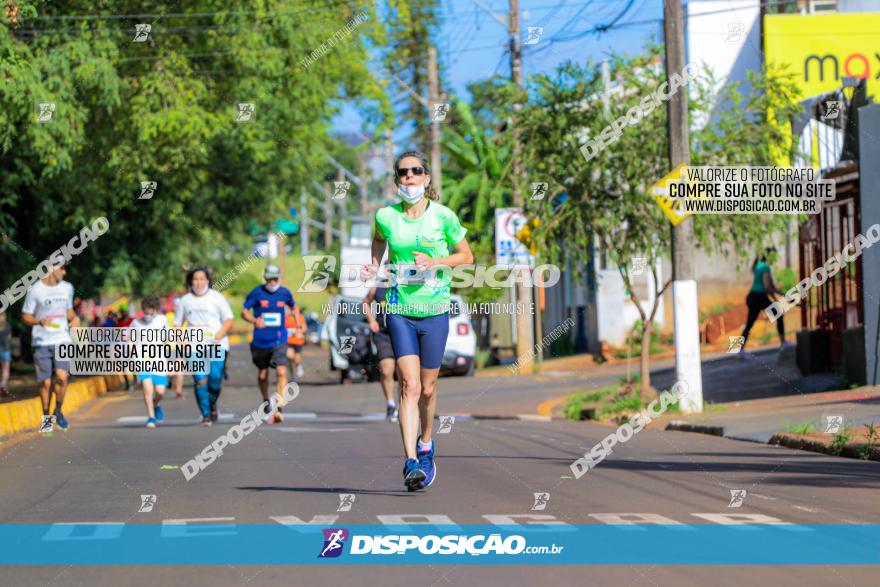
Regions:
<instances>
[{"instance_id":1,"label":"grey asphalt road with white markings under the runners","mask_svg":"<svg viewBox=\"0 0 880 587\"><path fill-rule=\"evenodd\" d=\"M166 401L166 423L155 430L142 426L138 393L115 393L71 416L66 433L0 444L0 520L488 524L504 519L499 516L542 515L543 521L603 524L638 513L683 524L880 524L878 463L699 434L642 431L585 476L571 478L569 464L612 429L517 415L534 414L542 401L565 391L603 385L615 378L607 372L598 381L570 375L442 379L439 413L458 417L448 433L435 436L434 486L407 493L399 431L380 418L378 385L336 385L334 375L321 370L326 364L324 352L315 350L286 421L257 428L190 481L163 465L183 464L259 404L244 347L230 360L221 422L214 427L197 425L188 385L183 400ZM499 418L479 417L490 415ZM736 509L728 507L735 489L747 491ZM533 510L540 492L549 493L548 503ZM151 512L138 512L143 494L156 496ZM337 512L339 494L356 496L350 511ZM5 567L0 584L876 585L877 573L877 567L845 565L51 565Z\"/></svg>"}]
</instances>

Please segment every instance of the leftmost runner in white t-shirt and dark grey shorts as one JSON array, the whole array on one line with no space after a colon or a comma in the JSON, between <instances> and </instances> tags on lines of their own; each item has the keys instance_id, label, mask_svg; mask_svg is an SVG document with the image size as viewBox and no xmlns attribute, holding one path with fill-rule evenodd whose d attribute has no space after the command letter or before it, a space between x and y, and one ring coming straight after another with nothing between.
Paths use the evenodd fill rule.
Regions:
<instances>
[{"instance_id":1,"label":"leftmost runner in white t-shirt and dark grey shorts","mask_svg":"<svg viewBox=\"0 0 880 587\"><path fill-rule=\"evenodd\" d=\"M43 407L40 432L52 432L53 418L62 430L69 428L62 406L70 376L70 361L55 358L55 347L71 342L70 327L79 326L79 318L73 311L73 286L64 281L66 273L64 265L53 264L49 274L28 290L22 307L21 317L25 325L32 327L34 367ZM53 393L55 411L49 415Z\"/></svg>"}]
</instances>

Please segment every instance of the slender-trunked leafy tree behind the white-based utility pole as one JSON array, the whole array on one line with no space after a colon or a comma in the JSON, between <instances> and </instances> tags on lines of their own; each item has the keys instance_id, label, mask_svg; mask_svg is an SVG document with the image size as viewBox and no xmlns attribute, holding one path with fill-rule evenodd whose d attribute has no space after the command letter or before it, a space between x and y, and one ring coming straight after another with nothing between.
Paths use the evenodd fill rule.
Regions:
<instances>
[{"instance_id":1,"label":"slender-trunked leafy tree behind the white-based utility pole","mask_svg":"<svg viewBox=\"0 0 880 587\"><path fill-rule=\"evenodd\" d=\"M658 107L637 124L624 128L619 139L587 161L579 152L589 138L652 93L665 81L662 49L650 46L633 57L614 56L611 75L625 92L602 100L602 80L594 64L573 62L551 74L535 76L529 85L533 99L521 117L522 140L530 174L546 176L566 194L527 202L528 212L540 219L532 232L537 246L552 262L590 259L598 249L616 266L626 289L633 292L631 259L645 257L655 296L650 307L633 293L642 323L640 358L641 394L650 393L649 349L652 323L660 296L671 283L654 271L656 262L670 253L670 223L648 193L651 184L669 170L666 107ZM693 165L773 165L771 153L784 144L780 127L798 111L792 81L775 70L751 74L749 89L729 84L713 90L705 71L690 84L691 163ZM683 91L683 90L680 90ZM721 107L716 109L715 105ZM711 118L710 118L711 117ZM694 121L709 120L699 128ZM782 126L781 128L785 128ZM774 233L785 229L785 216L718 215L694 217L697 244L706 250L748 254Z\"/></svg>"}]
</instances>

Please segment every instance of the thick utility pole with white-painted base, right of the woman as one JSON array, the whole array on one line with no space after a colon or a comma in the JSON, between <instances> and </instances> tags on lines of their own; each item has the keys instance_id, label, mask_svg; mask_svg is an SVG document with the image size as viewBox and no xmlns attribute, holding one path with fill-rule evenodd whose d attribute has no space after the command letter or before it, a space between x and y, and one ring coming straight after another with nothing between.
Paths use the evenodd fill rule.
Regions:
<instances>
[{"instance_id":1,"label":"thick utility pole with white-painted base, right of the woman","mask_svg":"<svg viewBox=\"0 0 880 587\"><path fill-rule=\"evenodd\" d=\"M684 22L681 0L663 0L666 79L684 69ZM690 163L688 92L681 88L668 102L669 166ZM687 218L672 227L672 305L675 321L675 379L687 384L680 405L685 413L703 411L697 282L694 279L694 225Z\"/></svg>"}]
</instances>

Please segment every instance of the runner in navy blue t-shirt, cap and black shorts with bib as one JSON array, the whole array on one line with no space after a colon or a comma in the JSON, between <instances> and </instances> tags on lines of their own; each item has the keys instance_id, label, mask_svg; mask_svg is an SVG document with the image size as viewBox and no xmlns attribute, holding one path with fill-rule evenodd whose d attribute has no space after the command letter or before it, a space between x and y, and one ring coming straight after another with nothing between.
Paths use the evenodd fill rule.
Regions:
<instances>
[{"instance_id":1,"label":"runner in navy blue t-shirt, cap and black shorts with bib","mask_svg":"<svg viewBox=\"0 0 880 587\"><path fill-rule=\"evenodd\" d=\"M275 387L279 397L284 397L287 386L287 328L285 327L285 308L293 310L293 294L281 285L281 270L277 265L266 265L263 271L266 283L259 285L248 294L241 310L245 322L254 325L254 340L251 342L251 358L257 367L257 384L263 401L269 399L269 369L275 369ZM273 415L273 421L281 423L282 406Z\"/></svg>"}]
</instances>

